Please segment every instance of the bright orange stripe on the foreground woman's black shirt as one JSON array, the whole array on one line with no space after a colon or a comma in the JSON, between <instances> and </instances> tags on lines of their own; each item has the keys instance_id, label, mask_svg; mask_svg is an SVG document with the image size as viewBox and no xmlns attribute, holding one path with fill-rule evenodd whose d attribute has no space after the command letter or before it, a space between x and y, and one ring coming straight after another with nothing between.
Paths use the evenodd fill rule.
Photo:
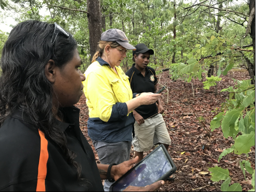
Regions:
<instances>
[{"instance_id":1,"label":"bright orange stripe on the foreground woman's black shirt","mask_svg":"<svg viewBox=\"0 0 256 192\"><path fill-rule=\"evenodd\" d=\"M38 165L38 175L37 175L37 186L36 191L45 191L45 178L47 174L47 161L48 161L48 142L44 136L44 133L39 130L39 135L41 138L41 151Z\"/></svg>"}]
</instances>

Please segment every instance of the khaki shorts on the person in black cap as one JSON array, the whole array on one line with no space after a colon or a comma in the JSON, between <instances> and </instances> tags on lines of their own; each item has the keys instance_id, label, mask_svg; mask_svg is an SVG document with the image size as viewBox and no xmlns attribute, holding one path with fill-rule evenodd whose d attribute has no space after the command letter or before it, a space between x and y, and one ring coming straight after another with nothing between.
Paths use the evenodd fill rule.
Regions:
<instances>
[{"instance_id":1,"label":"khaki shorts on the person in black cap","mask_svg":"<svg viewBox=\"0 0 256 192\"><path fill-rule=\"evenodd\" d=\"M171 138L163 120L162 114L157 114L145 123L134 123L135 136L133 138L134 150L137 152L149 151L158 143L171 145Z\"/></svg>"}]
</instances>

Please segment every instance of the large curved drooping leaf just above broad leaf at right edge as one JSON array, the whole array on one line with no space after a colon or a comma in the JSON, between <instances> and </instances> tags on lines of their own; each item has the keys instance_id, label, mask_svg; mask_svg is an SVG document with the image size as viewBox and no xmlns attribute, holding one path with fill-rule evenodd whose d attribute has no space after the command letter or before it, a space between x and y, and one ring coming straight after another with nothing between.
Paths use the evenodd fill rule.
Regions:
<instances>
[{"instance_id":1,"label":"large curved drooping leaf just above broad leaf at right edge","mask_svg":"<svg viewBox=\"0 0 256 192\"><path fill-rule=\"evenodd\" d=\"M242 110L242 108L232 109L231 111L226 112L221 123L222 132L225 138L228 136L232 136L233 138L236 137L238 130L235 130L235 122L237 118L239 118Z\"/></svg>"}]
</instances>

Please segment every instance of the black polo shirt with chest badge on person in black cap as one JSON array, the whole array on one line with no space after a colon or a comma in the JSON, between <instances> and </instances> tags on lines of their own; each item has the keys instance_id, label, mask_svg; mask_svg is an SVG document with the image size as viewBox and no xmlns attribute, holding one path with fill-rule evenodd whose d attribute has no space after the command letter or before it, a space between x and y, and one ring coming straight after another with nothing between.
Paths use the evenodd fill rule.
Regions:
<instances>
[{"instance_id":1,"label":"black polo shirt with chest badge on person in black cap","mask_svg":"<svg viewBox=\"0 0 256 192\"><path fill-rule=\"evenodd\" d=\"M154 92L155 85L157 84L157 76L156 72L151 67L146 67L145 77L139 70L135 68L135 64L133 64L132 68L129 69L126 73L129 76L129 81L131 84L131 88L133 93L144 93L144 92ZM152 105L142 105L135 109L140 116L144 119L147 119L154 114L158 113L158 108L156 103Z\"/></svg>"}]
</instances>

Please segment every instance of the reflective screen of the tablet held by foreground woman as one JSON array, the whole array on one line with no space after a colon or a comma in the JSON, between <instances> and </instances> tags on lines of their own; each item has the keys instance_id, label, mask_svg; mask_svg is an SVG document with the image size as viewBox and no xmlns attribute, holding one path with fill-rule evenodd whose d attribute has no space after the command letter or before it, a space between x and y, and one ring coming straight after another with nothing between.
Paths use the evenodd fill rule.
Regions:
<instances>
[{"instance_id":1,"label":"reflective screen of the tablet held by foreground woman","mask_svg":"<svg viewBox=\"0 0 256 192\"><path fill-rule=\"evenodd\" d=\"M134 170L115 183L112 191L122 191L128 186L147 186L155 183L159 178L172 170L172 165L166 157L162 147L153 152Z\"/></svg>"}]
</instances>

